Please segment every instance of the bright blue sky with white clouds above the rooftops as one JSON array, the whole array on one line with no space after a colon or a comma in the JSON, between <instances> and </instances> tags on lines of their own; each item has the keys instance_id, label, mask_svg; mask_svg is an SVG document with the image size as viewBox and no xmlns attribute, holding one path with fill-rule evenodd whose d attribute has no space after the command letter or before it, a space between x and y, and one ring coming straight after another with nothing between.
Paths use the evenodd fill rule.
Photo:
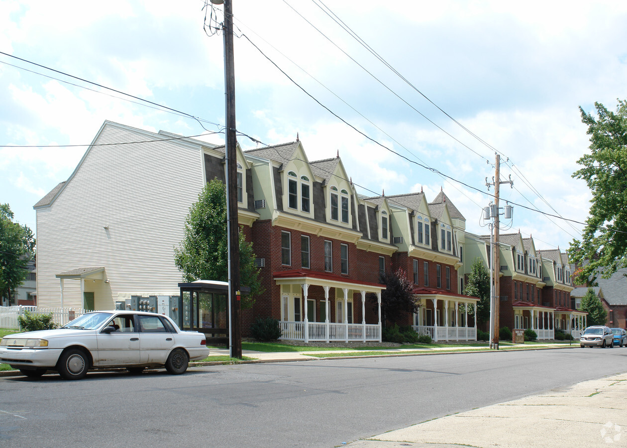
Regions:
<instances>
[{"instance_id":1,"label":"bright blue sky with white clouds above the rooftops","mask_svg":"<svg viewBox=\"0 0 627 448\"><path fill-rule=\"evenodd\" d=\"M627 2L233 3L238 131L263 144L298 133L312 161L339 151L366 196L422 188L433 200L443 188L482 234L498 151L501 179L514 181L501 187L502 205L514 203L503 231L545 249L579 237L581 225L522 206L586 219L591 196L571 178L588 146L578 108L627 98ZM2 1L0 203L16 220L34 229L34 203L70 176L103 120L224 141L222 35L203 29L204 1L174 4Z\"/></svg>"}]
</instances>

